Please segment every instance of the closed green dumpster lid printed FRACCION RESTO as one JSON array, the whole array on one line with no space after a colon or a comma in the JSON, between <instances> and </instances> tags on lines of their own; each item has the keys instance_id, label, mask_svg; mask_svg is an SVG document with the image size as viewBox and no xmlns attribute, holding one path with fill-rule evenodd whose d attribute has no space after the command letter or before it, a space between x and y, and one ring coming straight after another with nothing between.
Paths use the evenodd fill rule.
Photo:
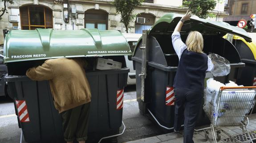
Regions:
<instances>
[{"instance_id":1,"label":"closed green dumpster lid printed FRACCION RESTO","mask_svg":"<svg viewBox=\"0 0 256 143\"><path fill-rule=\"evenodd\" d=\"M131 54L115 30L11 30L4 40L4 62Z\"/></svg>"}]
</instances>

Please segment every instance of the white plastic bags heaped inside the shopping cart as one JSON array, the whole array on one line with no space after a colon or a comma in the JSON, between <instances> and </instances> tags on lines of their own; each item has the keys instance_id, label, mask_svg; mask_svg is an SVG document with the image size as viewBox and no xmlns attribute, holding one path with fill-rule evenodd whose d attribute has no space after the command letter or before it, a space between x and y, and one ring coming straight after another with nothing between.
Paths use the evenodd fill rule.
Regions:
<instances>
[{"instance_id":1,"label":"white plastic bags heaped inside the shopping cart","mask_svg":"<svg viewBox=\"0 0 256 143\"><path fill-rule=\"evenodd\" d=\"M207 80L203 109L214 125L240 124L244 116L252 109L255 98L254 90L226 90L218 99L221 86L238 87L233 81L224 85L213 78Z\"/></svg>"}]
</instances>

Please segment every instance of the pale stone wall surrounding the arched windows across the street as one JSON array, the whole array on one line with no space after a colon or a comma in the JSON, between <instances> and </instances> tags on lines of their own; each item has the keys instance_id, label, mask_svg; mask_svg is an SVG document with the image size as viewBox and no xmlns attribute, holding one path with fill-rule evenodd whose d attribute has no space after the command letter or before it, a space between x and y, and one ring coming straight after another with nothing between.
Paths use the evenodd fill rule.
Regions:
<instances>
[{"instance_id":1,"label":"pale stone wall surrounding the arched windows across the street","mask_svg":"<svg viewBox=\"0 0 256 143\"><path fill-rule=\"evenodd\" d=\"M180 0L179 0L180 1ZM182 0L181 0L182 1ZM0 44L4 43L3 29L21 29L19 8L26 5L42 5L53 10L53 29L56 30L78 30L85 27L84 12L89 9L99 9L109 14L108 29L119 30L125 32L124 24L120 23L121 15L116 13L115 8L110 4L110 0L69 0L71 8L76 7L77 18L69 18L69 23L65 23L63 19L63 4L54 4L54 0L15 0L15 4L8 4L9 14L3 15L3 20L0 21ZM180 3L180 2L179 2ZM0 8L3 8L4 3L0 1ZM64 12L67 12L64 10ZM186 8L177 6L168 6L160 4L143 3L142 6L136 7L134 14L148 13L154 15L155 21L168 12L184 14ZM9 20L11 16L11 22ZM222 18L213 18L212 20L222 21ZM135 32L134 22L129 24L129 33Z\"/></svg>"}]
</instances>

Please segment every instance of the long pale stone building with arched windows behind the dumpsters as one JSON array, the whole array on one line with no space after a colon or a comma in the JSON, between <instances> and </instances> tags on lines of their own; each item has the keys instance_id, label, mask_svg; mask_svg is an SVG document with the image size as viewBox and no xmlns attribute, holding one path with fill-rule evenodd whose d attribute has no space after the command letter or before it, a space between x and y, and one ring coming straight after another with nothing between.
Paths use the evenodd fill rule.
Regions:
<instances>
[{"instance_id":1,"label":"long pale stone building with arched windows behind the dumpsters","mask_svg":"<svg viewBox=\"0 0 256 143\"><path fill-rule=\"evenodd\" d=\"M113 0L15 0L7 4L0 21L3 29L34 30L36 28L53 28L55 30L78 30L81 28L98 28L99 30L118 30L126 32L120 23L121 15L111 4ZM129 24L129 33L142 33L150 28L160 17L169 13L184 14L183 0L145 0L142 6L134 9L137 17ZM0 2L0 8L4 3ZM212 20L222 21L224 4L219 3L213 11ZM0 44L4 41L0 34Z\"/></svg>"}]
</instances>

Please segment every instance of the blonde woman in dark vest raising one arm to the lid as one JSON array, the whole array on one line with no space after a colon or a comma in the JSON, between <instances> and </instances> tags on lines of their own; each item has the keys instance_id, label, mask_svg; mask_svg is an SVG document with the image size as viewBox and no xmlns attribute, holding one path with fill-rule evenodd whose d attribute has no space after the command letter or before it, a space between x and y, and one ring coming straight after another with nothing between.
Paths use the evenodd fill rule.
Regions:
<instances>
[{"instance_id":1,"label":"blonde woman in dark vest raising one arm to the lid","mask_svg":"<svg viewBox=\"0 0 256 143\"><path fill-rule=\"evenodd\" d=\"M198 31L191 31L186 44L180 38L183 23L189 20L191 11L184 15L171 36L172 45L179 57L179 66L174 79L175 124L174 131L179 132L184 115L184 143L194 143L193 134L203 99L204 78L206 71L213 69L211 59L203 53L203 36Z\"/></svg>"}]
</instances>

